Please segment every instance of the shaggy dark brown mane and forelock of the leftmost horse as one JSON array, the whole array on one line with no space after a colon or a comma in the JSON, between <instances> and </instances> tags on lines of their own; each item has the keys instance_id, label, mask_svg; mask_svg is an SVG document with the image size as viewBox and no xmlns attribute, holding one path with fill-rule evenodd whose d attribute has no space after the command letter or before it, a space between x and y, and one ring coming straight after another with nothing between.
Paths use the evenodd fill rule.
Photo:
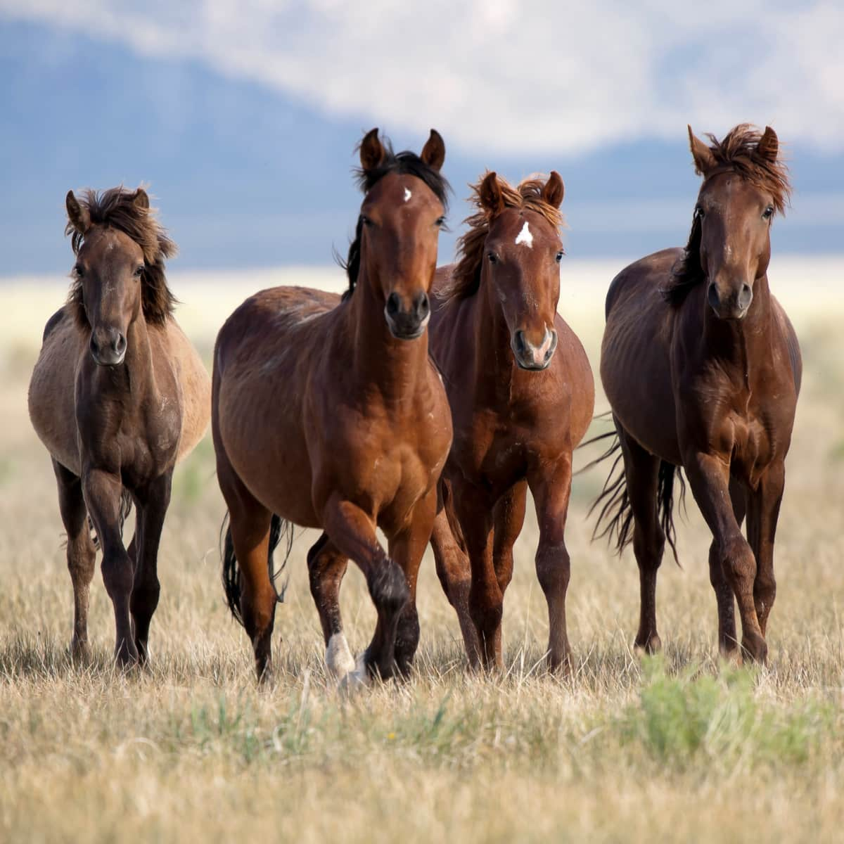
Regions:
<instances>
[{"instance_id":1,"label":"shaggy dark brown mane and forelock of the leftmost horse","mask_svg":"<svg viewBox=\"0 0 844 844\"><path fill-rule=\"evenodd\" d=\"M176 254L176 244L155 219L154 208L143 208L134 201L135 196L135 191L129 191L121 185L103 192L86 190L77 200L87 210L91 227L111 226L131 237L141 247L145 265L141 279L143 317L152 325L162 325L176 306L176 297L170 292L165 278L165 258ZM85 235L70 222L65 226L64 233L72 235L73 254L78 255ZM81 279L73 279L68 306L79 325L87 326Z\"/></svg>"}]
</instances>

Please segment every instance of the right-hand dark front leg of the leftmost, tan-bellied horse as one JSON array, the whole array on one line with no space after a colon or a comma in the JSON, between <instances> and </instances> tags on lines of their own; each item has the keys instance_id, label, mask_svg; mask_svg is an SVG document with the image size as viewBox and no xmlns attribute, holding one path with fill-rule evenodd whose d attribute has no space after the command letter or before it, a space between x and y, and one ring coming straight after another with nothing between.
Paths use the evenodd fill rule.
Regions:
<instances>
[{"instance_id":1,"label":"right-hand dark front leg of the leftmost, tan-bellied horse","mask_svg":"<svg viewBox=\"0 0 844 844\"><path fill-rule=\"evenodd\" d=\"M134 622L135 647L138 648L141 663L149 660L149 623L161 592L158 550L167 507L170 505L172 477L170 469L149 484L139 496L138 521L133 538L135 578L129 606Z\"/></svg>"}]
</instances>

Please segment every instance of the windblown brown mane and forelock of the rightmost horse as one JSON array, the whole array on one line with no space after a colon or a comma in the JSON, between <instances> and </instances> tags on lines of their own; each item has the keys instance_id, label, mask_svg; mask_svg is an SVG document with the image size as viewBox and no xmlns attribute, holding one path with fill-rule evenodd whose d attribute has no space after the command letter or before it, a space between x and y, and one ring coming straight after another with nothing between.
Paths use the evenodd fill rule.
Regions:
<instances>
[{"instance_id":1,"label":"windblown brown mane and forelock of the rightmost horse","mask_svg":"<svg viewBox=\"0 0 844 844\"><path fill-rule=\"evenodd\" d=\"M785 162L777 158L766 159L757 152L762 134L747 123L739 123L731 132L719 141L708 134L711 141L710 152L717 166L704 178L704 184L718 173L733 172L741 176L760 190L769 192L777 214L785 214L786 205L791 196L791 183L788 181L788 168ZM702 187L702 186L701 186ZM672 305L679 305L685 300L690 289L704 280L701 268L701 221L695 215L692 219L689 241L683 250L683 257L674 264L671 280L663 289L663 296Z\"/></svg>"}]
</instances>

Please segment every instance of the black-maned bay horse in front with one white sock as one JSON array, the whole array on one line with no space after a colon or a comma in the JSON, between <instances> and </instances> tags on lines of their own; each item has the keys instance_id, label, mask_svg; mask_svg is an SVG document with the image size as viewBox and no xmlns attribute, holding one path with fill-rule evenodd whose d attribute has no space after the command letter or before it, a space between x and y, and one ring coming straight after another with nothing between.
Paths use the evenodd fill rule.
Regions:
<instances>
[{"instance_id":1,"label":"black-maned bay horse in front with one white sock","mask_svg":"<svg viewBox=\"0 0 844 844\"><path fill-rule=\"evenodd\" d=\"M393 154L377 129L360 144L365 192L342 300L304 288L263 290L220 330L212 428L230 511L224 584L252 640L259 679L271 668L272 546L283 522L321 527L308 552L326 662L345 682L406 673L419 642L419 563L452 441L428 357L428 290L444 221L445 146ZM376 538L387 535L388 554ZM378 620L357 663L338 592L351 558Z\"/></svg>"}]
</instances>

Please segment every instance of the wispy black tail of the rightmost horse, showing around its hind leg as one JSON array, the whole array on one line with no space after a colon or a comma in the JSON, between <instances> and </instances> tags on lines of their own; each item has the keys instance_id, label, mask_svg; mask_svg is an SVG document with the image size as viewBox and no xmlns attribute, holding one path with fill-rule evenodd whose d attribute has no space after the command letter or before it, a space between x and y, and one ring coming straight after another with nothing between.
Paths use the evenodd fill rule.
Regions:
<instances>
[{"instance_id":1,"label":"wispy black tail of the rightmost horse, showing around its hind leg","mask_svg":"<svg viewBox=\"0 0 844 844\"><path fill-rule=\"evenodd\" d=\"M609 469L609 475L603 484L598 498L589 508L589 516L598 506L601 511L598 513L598 520L595 529L592 531L592 539L607 537L610 545L620 554L627 545L633 541L633 510L630 507L630 496L627 495L627 479L625 477L624 454L621 452L621 441L615 432L602 434L594 437L590 442L613 436L613 443L603 454L585 468L602 463L609 457L615 456L613 465ZM663 528L665 538L671 547L674 555L674 562L680 564L677 556L677 531L674 527L674 475L677 475L680 484L680 506L685 509L685 479L683 472L674 463L665 460L659 463L659 480L657 484L657 517Z\"/></svg>"}]
</instances>

